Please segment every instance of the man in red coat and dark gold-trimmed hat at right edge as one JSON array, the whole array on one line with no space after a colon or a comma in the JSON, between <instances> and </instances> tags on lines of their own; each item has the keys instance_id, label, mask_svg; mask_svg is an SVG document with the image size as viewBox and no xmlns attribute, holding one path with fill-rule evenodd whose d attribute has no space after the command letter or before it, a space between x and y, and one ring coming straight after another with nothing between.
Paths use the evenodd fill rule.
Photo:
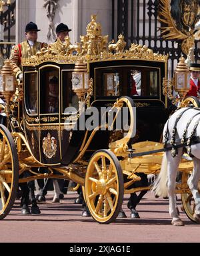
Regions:
<instances>
[{"instance_id":1,"label":"man in red coat and dark gold-trimmed hat at right edge","mask_svg":"<svg viewBox=\"0 0 200 256\"><path fill-rule=\"evenodd\" d=\"M191 71L191 79L190 79L190 90L187 92L186 96L200 96L200 64L199 63L191 63L189 70Z\"/></svg>"}]
</instances>

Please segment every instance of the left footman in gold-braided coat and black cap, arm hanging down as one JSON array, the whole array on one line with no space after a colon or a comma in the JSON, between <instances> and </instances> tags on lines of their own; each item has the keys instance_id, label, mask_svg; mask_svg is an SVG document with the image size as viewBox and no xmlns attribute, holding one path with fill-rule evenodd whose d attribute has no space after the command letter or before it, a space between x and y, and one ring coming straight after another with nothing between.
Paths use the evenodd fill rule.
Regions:
<instances>
[{"instance_id":1,"label":"left footman in gold-braided coat and black cap, arm hanging down","mask_svg":"<svg viewBox=\"0 0 200 256\"><path fill-rule=\"evenodd\" d=\"M16 78L23 80L23 74L21 71L21 58L29 58L36 55L43 47L47 47L47 43L41 43L37 41L37 32L40 29L33 22L29 22L25 27L26 41L13 46L11 51L11 66L15 72Z\"/></svg>"}]
</instances>

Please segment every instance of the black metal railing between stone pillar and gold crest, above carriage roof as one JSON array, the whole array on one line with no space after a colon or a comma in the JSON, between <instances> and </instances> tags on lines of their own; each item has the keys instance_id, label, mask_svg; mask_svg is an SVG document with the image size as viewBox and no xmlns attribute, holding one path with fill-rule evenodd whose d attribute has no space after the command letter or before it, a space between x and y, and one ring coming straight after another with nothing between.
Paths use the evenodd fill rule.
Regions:
<instances>
[{"instance_id":1,"label":"black metal railing between stone pillar and gold crest, above carriage roof","mask_svg":"<svg viewBox=\"0 0 200 256\"><path fill-rule=\"evenodd\" d=\"M161 38L161 23L158 19L158 0L112 0L112 36L123 33L127 48L131 43L147 45L154 52L169 54L169 76L181 57L181 41L167 41ZM116 29L117 27L117 29Z\"/></svg>"}]
</instances>

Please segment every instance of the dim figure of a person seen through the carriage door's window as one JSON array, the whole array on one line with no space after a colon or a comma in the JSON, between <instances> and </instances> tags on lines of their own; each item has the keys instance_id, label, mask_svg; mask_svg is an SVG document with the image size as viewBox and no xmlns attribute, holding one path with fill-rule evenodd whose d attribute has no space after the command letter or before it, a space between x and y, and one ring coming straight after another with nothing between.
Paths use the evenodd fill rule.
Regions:
<instances>
[{"instance_id":1,"label":"dim figure of a person seen through the carriage door's window","mask_svg":"<svg viewBox=\"0 0 200 256\"><path fill-rule=\"evenodd\" d=\"M58 113L59 111L59 80L56 76L49 80L48 112Z\"/></svg>"}]
</instances>

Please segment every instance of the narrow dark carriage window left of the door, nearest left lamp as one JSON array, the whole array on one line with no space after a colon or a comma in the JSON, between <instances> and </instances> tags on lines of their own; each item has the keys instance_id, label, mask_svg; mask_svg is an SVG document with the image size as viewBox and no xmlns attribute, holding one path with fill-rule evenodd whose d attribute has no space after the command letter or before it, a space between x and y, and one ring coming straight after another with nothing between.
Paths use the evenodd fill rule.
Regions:
<instances>
[{"instance_id":1,"label":"narrow dark carriage window left of the door, nearest left lamp","mask_svg":"<svg viewBox=\"0 0 200 256\"><path fill-rule=\"evenodd\" d=\"M25 73L25 106L28 114L37 114L37 73Z\"/></svg>"}]
</instances>

